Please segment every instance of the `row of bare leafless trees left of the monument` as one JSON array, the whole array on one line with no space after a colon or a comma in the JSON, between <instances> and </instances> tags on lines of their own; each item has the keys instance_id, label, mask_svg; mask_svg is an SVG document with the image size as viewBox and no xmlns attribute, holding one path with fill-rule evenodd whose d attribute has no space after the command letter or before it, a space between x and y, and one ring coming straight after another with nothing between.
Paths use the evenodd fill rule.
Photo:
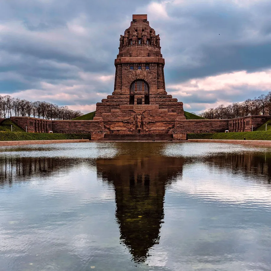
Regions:
<instances>
[{"instance_id":1,"label":"row of bare leafless trees left of the monument","mask_svg":"<svg viewBox=\"0 0 271 271\"><path fill-rule=\"evenodd\" d=\"M67 106L58 106L46 101L27 101L0 95L0 117L38 117L47 120L72 120L82 116L81 111L71 110Z\"/></svg>"}]
</instances>

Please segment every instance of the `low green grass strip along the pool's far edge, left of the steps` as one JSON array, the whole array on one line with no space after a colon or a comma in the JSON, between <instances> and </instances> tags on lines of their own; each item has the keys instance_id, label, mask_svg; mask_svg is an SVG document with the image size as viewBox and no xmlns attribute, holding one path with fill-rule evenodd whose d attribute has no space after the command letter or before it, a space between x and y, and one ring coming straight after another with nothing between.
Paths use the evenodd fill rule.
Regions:
<instances>
[{"instance_id":1,"label":"low green grass strip along the pool's far edge, left of the steps","mask_svg":"<svg viewBox=\"0 0 271 271\"><path fill-rule=\"evenodd\" d=\"M0 141L13 140L59 140L59 139L90 139L90 134L48 134L26 132L0 132Z\"/></svg>"}]
</instances>

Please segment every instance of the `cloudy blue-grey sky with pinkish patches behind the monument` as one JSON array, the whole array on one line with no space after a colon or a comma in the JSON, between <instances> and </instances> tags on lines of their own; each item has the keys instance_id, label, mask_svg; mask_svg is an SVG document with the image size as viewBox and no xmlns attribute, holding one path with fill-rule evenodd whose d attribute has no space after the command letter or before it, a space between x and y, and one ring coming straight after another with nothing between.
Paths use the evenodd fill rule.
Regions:
<instances>
[{"instance_id":1,"label":"cloudy blue-grey sky with pinkish patches behind the monument","mask_svg":"<svg viewBox=\"0 0 271 271\"><path fill-rule=\"evenodd\" d=\"M196 113L271 91L270 0L0 0L0 94L84 113L114 88L119 37L148 14L166 90ZM220 34L220 35L219 35Z\"/></svg>"}]
</instances>

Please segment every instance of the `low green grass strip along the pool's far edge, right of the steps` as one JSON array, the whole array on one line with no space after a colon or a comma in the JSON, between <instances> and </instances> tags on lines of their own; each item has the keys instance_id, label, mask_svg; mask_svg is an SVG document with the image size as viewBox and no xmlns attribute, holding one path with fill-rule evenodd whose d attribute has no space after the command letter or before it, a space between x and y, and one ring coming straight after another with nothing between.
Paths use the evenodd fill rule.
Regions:
<instances>
[{"instance_id":1,"label":"low green grass strip along the pool's far edge, right of the steps","mask_svg":"<svg viewBox=\"0 0 271 271\"><path fill-rule=\"evenodd\" d=\"M271 140L271 130L235 133L203 133L187 134L188 139L240 139L243 140Z\"/></svg>"}]
</instances>

